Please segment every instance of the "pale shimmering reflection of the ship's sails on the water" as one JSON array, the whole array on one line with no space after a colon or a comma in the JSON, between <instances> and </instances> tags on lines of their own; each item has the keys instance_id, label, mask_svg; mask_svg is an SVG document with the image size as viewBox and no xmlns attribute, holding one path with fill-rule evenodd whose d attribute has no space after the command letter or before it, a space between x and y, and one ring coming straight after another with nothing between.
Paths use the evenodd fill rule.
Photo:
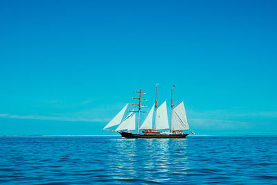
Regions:
<instances>
[{"instance_id":1,"label":"pale shimmering reflection of the ship's sails on the water","mask_svg":"<svg viewBox=\"0 0 277 185\"><path fill-rule=\"evenodd\" d=\"M109 168L119 179L141 177L166 182L189 170L187 139L116 139L116 154ZM140 178L140 179L141 179Z\"/></svg>"}]
</instances>

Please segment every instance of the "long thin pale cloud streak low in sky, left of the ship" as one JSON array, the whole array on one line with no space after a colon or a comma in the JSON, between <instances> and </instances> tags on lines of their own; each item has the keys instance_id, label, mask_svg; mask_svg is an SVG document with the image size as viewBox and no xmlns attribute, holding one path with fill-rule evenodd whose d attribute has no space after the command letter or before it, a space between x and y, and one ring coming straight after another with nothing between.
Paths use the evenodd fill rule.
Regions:
<instances>
[{"instance_id":1,"label":"long thin pale cloud streak low in sky, left of the ship","mask_svg":"<svg viewBox=\"0 0 277 185\"><path fill-rule=\"evenodd\" d=\"M51 121L82 121L82 122L107 122L109 118L67 118L67 117L57 117L57 116L36 116L36 115L26 115L19 116L15 114L0 114L2 118L17 118L17 119L33 119L33 120L51 120Z\"/></svg>"}]
</instances>

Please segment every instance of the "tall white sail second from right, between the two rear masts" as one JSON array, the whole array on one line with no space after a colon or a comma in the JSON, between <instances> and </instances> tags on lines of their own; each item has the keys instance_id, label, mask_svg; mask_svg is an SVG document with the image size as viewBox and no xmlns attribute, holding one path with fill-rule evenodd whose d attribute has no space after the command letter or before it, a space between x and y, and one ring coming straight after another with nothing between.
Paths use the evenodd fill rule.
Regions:
<instances>
[{"instance_id":1,"label":"tall white sail second from right, between the two rear masts","mask_svg":"<svg viewBox=\"0 0 277 185\"><path fill-rule=\"evenodd\" d=\"M157 108L156 112L156 130L168 129L168 111L166 109L166 100Z\"/></svg>"}]
</instances>

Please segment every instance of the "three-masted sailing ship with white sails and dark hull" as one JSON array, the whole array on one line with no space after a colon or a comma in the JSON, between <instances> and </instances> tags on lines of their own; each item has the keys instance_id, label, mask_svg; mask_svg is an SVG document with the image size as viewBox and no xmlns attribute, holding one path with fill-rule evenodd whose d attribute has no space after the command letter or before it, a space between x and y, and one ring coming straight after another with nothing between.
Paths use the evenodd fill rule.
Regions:
<instances>
[{"instance_id":1,"label":"three-masted sailing ship with white sails and dark hull","mask_svg":"<svg viewBox=\"0 0 277 185\"><path fill-rule=\"evenodd\" d=\"M127 104L123 109L116 114L116 116L111 119L111 121L103 128L103 130L108 130L110 127L116 127L114 130L108 130L111 132L118 132L122 137L125 138L184 138L188 136L188 130L190 130L188 125L188 120L186 118L186 110L184 106L184 100L181 101L176 107L173 106L172 94L173 87L171 89L171 124L168 123L168 111L166 107L166 100L158 106L157 101L157 85L156 85L156 96L155 103L152 105L150 112L146 116L143 123L140 125L140 116L142 107L147 107L147 105L141 104L142 100L141 94L145 92L134 91L134 93L139 93L139 98L132 98L139 100L139 104ZM127 110L128 105L138 106L138 110L130 110L129 114L123 119L123 116ZM136 113L138 114L136 122ZM154 117L154 124L153 124ZM137 123L137 124L136 124ZM142 130L142 132L140 132ZM167 130L167 131L160 131ZM169 131L168 131L169 130ZM136 131L136 133L132 132Z\"/></svg>"}]
</instances>

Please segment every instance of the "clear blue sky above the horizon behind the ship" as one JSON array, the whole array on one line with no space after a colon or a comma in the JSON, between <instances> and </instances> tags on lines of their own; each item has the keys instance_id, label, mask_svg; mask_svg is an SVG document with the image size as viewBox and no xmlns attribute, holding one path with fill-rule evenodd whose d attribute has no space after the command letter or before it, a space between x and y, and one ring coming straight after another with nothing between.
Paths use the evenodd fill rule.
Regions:
<instances>
[{"instance_id":1,"label":"clear blue sky above the horizon behind the ship","mask_svg":"<svg viewBox=\"0 0 277 185\"><path fill-rule=\"evenodd\" d=\"M277 1L1 1L0 134L100 130L159 82L196 134L277 134ZM168 102L169 107L169 102Z\"/></svg>"}]
</instances>

